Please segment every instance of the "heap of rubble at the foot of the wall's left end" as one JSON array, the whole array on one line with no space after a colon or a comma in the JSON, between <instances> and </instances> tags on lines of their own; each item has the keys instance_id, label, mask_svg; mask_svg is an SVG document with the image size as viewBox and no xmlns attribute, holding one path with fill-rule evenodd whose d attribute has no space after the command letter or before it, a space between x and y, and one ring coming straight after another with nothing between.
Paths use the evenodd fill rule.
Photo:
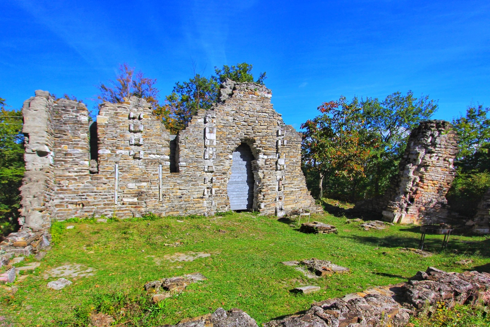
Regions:
<instances>
[{"instance_id":1,"label":"heap of rubble at the foot of the wall's left end","mask_svg":"<svg viewBox=\"0 0 490 327\"><path fill-rule=\"evenodd\" d=\"M31 231L28 228L10 233L0 243L0 254L29 256L41 249L49 250L51 235L47 231Z\"/></svg>"}]
</instances>

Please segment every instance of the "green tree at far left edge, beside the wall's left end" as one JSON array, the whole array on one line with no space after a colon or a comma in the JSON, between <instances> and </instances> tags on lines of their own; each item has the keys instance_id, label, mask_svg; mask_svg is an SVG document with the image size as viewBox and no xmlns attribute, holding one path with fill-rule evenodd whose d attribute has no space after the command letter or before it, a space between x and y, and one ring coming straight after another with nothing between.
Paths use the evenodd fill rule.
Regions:
<instances>
[{"instance_id":1,"label":"green tree at far left edge, beside the wall's left end","mask_svg":"<svg viewBox=\"0 0 490 327\"><path fill-rule=\"evenodd\" d=\"M20 191L24 176L22 111L7 110L0 98L0 231L3 235L18 227Z\"/></svg>"}]
</instances>

